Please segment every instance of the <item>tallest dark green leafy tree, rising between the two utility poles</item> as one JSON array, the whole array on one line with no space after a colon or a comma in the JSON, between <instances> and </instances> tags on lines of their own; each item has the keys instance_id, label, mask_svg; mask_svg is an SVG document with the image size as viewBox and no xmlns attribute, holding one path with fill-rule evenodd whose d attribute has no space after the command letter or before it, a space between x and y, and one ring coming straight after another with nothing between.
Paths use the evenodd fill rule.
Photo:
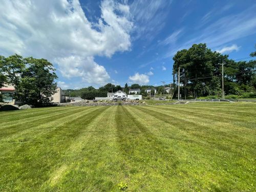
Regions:
<instances>
[{"instance_id":1,"label":"tallest dark green leafy tree, rising between the two utility poles","mask_svg":"<svg viewBox=\"0 0 256 192\"><path fill-rule=\"evenodd\" d=\"M227 55L212 52L206 44L194 44L188 50L178 51L174 56L173 74L178 74L180 67L180 82L187 92L192 92L194 97L218 92L219 84L214 83L212 77L221 74L221 63L227 60ZM192 89L192 90L191 90ZM211 90L210 90L211 89ZM215 91L213 91L215 90Z\"/></svg>"}]
</instances>

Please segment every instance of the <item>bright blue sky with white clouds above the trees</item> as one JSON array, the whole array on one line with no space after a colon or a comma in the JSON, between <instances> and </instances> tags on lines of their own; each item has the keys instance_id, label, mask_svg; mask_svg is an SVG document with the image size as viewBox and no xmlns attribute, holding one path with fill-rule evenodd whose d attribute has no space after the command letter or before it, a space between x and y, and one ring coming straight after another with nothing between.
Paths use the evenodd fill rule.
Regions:
<instances>
[{"instance_id":1,"label":"bright blue sky with white clouds above the trees","mask_svg":"<svg viewBox=\"0 0 256 192\"><path fill-rule=\"evenodd\" d=\"M173 80L173 56L200 42L229 58L256 44L255 1L4 1L0 55L47 58L62 89ZM245 60L248 60L246 58Z\"/></svg>"}]
</instances>

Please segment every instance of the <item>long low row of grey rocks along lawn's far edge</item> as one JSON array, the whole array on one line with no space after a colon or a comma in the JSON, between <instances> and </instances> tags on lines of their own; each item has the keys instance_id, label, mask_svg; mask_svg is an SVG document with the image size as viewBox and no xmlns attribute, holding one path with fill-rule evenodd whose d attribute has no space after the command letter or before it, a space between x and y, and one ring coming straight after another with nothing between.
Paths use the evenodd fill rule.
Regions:
<instances>
[{"instance_id":1,"label":"long low row of grey rocks along lawn's far edge","mask_svg":"<svg viewBox=\"0 0 256 192\"><path fill-rule=\"evenodd\" d=\"M59 103L58 106L113 106L113 105L147 105L145 101L80 101L80 102L74 102L74 103Z\"/></svg>"}]
</instances>

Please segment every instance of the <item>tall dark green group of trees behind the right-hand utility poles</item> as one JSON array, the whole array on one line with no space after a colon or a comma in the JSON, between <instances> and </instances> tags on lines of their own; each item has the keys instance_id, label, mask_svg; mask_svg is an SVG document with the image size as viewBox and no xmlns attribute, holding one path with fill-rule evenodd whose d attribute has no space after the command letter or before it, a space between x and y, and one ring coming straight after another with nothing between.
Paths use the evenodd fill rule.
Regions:
<instances>
[{"instance_id":1,"label":"tall dark green group of trees behind the right-hand utility poles","mask_svg":"<svg viewBox=\"0 0 256 192\"><path fill-rule=\"evenodd\" d=\"M256 48L256 46L255 46ZM256 52L250 54L255 56ZM256 90L256 61L235 61L211 51L206 44L195 44L178 51L173 57L173 76L180 68L182 95L186 97L221 96L222 63L224 65L225 95L252 93ZM247 94L248 95L248 94Z\"/></svg>"}]
</instances>

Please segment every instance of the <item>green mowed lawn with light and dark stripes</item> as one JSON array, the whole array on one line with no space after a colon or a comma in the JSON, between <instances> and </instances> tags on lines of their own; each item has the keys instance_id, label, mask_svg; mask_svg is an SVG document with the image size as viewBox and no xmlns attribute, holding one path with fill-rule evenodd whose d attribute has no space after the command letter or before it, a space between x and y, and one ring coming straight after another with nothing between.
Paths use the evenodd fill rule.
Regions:
<instances>
[{"instance_id":1,"label":"green mowed lawn with light and dark stripes","mask_svg":"<svg viewBox=\"0 0 256 192\"><path fill-rule=\"evenodd\" d=\"M0 191L255 191L256 104L0 112Z\"/></svg>"}]
</instances>

